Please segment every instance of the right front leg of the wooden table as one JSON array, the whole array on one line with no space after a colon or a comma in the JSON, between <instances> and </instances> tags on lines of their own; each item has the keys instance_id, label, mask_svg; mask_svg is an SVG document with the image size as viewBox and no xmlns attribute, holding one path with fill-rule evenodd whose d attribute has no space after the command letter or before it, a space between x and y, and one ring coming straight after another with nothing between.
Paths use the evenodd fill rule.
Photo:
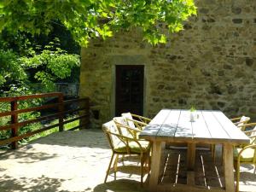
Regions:
<instances>
[{"instance_id":1,"label":"right front leg of the wooden table","mask_svg":"<svg viewBox=\"0 0 256 192\"><path fill-rule=\"evenodd\" d=\"M233 146L230 143L224 144L224 178L226 191L234 192Z\"/></svg>"}]
</instances>

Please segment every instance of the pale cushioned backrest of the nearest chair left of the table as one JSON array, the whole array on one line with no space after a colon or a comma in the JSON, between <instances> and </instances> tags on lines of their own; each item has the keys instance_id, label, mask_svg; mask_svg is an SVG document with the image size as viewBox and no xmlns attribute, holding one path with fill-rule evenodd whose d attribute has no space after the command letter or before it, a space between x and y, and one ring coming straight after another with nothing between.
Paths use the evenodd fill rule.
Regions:
<instances>
[{"instance_id":1,"label":"pale cushioned backrest of the nearest chair left of the table","mask_svg":"<svg viewBox=\"0 0 256 192\"><path fill-rule=\"evenodd\" d=\"M108 123L105 123L102 125L102 130L106 133L108 137L108 143L110 144L110 147L113 149L116 146L119 145L122 141L119 139L119 137L114 136L112 133L119 134L119 130L113 120L108 121Z\"/></svg>"}]
</instances>

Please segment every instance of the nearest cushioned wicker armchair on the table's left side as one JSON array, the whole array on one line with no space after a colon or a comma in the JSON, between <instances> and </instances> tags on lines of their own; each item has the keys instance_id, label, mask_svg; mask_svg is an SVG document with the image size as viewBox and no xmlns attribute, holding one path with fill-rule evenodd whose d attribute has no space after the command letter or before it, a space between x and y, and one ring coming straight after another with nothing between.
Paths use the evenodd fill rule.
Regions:
<instances>
[{"instance_id":1,"label":"nearest cushioned wicker armchair on the table's left side","mask_svg":"<svg viewBox=\"0 0 256 192\"><path fill-rule=\"evenodd\" d=\"M122 129L125 129L125 126L122 127ZM143 184L143 175L144 175L143 169L144 169L144 164L146 162L148 162L148 172L150 169L150 166L149 166L150 165L150 159L149 159L150 143L144 140L143 141L137 140L134 137L127 137L127 136L121 135L119 133L118 127L115 125L113 120L109 121L106 124L103 124L102 130L106 133L106 136L108 138L108 143L110 145L110 148L112 149L112 156L109 162L104 183L107 182L108 174L112 166L114 155L116 155L116 158L113 163L113 171L114 171L114 179L116 179L119 154L121 155L136 154L140 157L141 184Z\"/></svg>"}]
</instances>

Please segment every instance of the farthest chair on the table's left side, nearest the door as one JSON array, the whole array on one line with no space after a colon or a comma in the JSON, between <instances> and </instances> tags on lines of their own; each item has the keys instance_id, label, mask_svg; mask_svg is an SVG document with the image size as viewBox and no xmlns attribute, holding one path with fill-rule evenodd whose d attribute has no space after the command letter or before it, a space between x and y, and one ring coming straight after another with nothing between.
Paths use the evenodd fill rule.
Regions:
<instances>
[{"instance_id":1,"label":"farthest chair on the table's left side, nearest the door","mask_svg":"<svg viewBox=\"0 0 256 192\"><path fill-rule=\"evenodd\" d=\"M137 114L133 114L133 113L122 113L122 117L124 117L127 122L128 125L131 128L137 128L140 130L143 130L143 128L148 125L148 123L151 121L151 119L137 115Z\"/></svg>"}]
</instances>

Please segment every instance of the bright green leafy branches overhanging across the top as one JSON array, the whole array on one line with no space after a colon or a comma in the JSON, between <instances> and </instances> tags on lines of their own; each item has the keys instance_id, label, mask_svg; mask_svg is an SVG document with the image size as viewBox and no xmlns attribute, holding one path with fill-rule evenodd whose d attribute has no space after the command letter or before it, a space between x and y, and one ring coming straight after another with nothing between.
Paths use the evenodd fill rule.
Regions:
<instances>
[{"instance_id":1,"label":"bright green leafy branches overhanging across the top","mask_svg":"<svg viewBox=\"0 0 256 192\"><path fill-rule=\"evenodd\" d=\"M158 44L166 41L158 24L178 32L183 20L195 13L193 0L2 0L0 31L47 34L57 21L79 44L87 45L90 38L139 27L149 43Z\"/></svg>"}]
</instances>

